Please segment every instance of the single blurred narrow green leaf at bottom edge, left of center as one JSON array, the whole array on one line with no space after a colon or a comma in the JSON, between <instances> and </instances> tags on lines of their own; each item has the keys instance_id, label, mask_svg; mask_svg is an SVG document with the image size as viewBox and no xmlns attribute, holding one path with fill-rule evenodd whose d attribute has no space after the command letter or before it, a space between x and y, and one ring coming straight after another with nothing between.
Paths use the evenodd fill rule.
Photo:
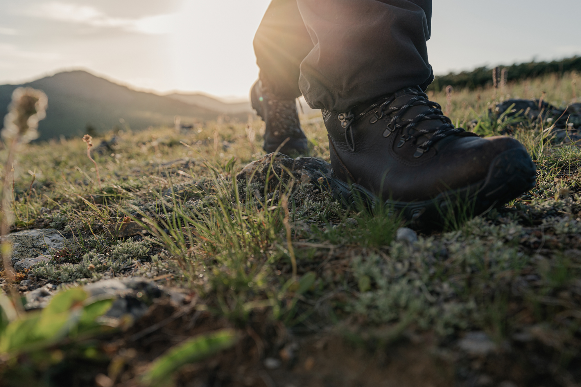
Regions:
<instances>
[{"instance_id":1,"label":"single blurred narrow green leaf at bottom edge, left of center","mask_svg":"<svg viewBox=\"0 0 581 387\"><path fill-rule=\"evenodd\" d=\"M144 375L142 381L146 386L167 385L171 375L178 368L188 363L202 361L220 350L231 347L236 342L234 329L221 329L195 336L177 346L170 348L165 354L158 357Z\"/></svg>"}]
</instances>

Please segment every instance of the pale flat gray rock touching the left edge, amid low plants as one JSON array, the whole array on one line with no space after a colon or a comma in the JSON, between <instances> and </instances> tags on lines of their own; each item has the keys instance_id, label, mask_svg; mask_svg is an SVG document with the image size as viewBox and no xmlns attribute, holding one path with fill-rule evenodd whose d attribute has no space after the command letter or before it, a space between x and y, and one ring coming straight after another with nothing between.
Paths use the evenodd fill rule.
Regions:
<instances>
[{"instance_id":1,"label":"pale flat gray rock touching the left edge, amid low plants","mask_svg":"<svg viewBox=\"0 0 581 387\"><path fill-rule=\"evenodd\" d=\"M52 250L64 247L65 239L53 228L13 232L2 239L12 242L12 264L26 258L51 255Z\"/></svg>"}]
</instances>

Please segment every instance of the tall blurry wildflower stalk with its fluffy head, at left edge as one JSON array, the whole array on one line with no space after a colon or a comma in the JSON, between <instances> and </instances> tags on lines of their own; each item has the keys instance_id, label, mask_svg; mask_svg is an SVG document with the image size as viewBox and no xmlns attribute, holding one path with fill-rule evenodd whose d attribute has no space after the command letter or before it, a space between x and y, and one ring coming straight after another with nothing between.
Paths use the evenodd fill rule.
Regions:
<instances>
[{"instance_id":1,"label":"tall blurry wildflower stalk with its fluffy head, at left edge","mask_svg":"<svg viewBox=\"0 0 581 387\"><path fill-rule=\"evenodd\" d=\"M2 178L2 219L0 221L0 234L2 236L9 234L10 223L14 217L11 204L14 192L14 163L17 152L20 145L38 138L38 121L46 116L47 101L44 92L33 88L17 88L12 93L12 102L9 106L9 112L4 118L4 128L2 129L2 138L8 145L8 157L6 157ZM15 273L11 262L12 243L8 239L2 238L0 252L2 253L2 266L6 283L11 284L14 281ZM18 299L16 289L13 288L12 292L14 299ZM19 308L17 307L17 309Z\"/></svg>"}]
</instances>

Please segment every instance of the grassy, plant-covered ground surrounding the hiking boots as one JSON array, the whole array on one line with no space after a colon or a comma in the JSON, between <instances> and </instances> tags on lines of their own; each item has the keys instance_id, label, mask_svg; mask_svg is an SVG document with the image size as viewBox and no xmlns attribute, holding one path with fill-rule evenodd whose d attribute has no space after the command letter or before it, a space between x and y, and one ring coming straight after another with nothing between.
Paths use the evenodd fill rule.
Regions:
<instances>
[{"instance_id":1,"label":"grassy, plant-covered ground surrounding the hiking boots","mask_svg":"<svg viewBox=\"0 0 581 387\"><path fill-rule=\"evenodd\" d=\"M432 93L459 126L519 139L537 184L417 239L398 234L406 224L385 206L346 209L333 198L320 117L303 117L314 159L257 152L260 139L248 135L256 121L120 131L110 153L91 153L101 188L81 138L28 145L15 164L13 230L54 228L67 242L25 281L2 279L5 291L146 277L182 296L83 338L91 350L75 338L44 347L60 354L42 367L35 350L12 357L2 363L6 384L34 369L58 385L63 370L78 369L102 386L166 377L300 385L347 375L349 364L365 364L369 378L336 385L581 381L581 152L555 136L547 115L496 112L507 99L541 95L564 108L572 87L565 74L509 83L504 94ZM195 364L171 360L180 354ZM418 362L425 374L401 365Z\"/></svg>"}]
</instances>

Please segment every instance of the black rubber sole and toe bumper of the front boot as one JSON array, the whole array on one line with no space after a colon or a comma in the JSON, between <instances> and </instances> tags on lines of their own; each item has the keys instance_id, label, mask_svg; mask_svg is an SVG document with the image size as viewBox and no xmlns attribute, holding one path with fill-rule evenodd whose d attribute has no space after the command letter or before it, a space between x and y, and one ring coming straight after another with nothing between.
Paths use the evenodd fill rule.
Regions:
<instances>
[{"instance_id":1,"label":"black rubber sole and toe bumper of the front boot","mask_svg":"<svg viewBox=\"0 0 581 387\"><path fill-rule=\"evenodd\" d=\"M401 202L385 200L416 230L435 230L458 225L493 207L501 206L535 187L536 166L524 149L506 150L490 164L482 181L467 187L450 189L430 200ZM382 200L367 188L348 184L333 173L330 179L335 199L357 209L364 205L374 207Z\"/></svg>"}]
</instances>

